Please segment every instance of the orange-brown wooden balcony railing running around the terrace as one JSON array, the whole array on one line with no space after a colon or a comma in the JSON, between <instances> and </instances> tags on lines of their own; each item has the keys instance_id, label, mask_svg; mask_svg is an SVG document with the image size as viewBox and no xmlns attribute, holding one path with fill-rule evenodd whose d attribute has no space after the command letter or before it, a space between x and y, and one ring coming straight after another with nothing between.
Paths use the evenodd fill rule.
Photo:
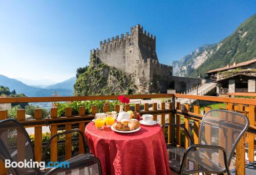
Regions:
<instances>
[{"instance_id":1,"label":"orange-brown wooden balcony railing running around the terrace","mask_svg":"<svg viewBox=\"0 0 256 175\"><path fill-rule=\"evenodd\" d=\"M158 108L157 103L152 104L152 110L150 110L150 104L145 103L143 110L140 110L140 104L135 104L134 111L139 114L152 114L154 120L157 120L158 115L160 115L160 124L164 124L167 120L169 123L180 124L181 119L184 118L184 125L189 130L189 121L193 121L194 125L194 142L195 144L199 141L199 126L200 121L202 120L203 115L200 114L199 105L181 105L179 102L176 102L176 98L186 98L194 100L203 100L203 101L215 101L226 103L226 110L236 111L246 115L249 118L250 127L246 135L241 139L238 147L236 148L236 174L245 174L245 142L248 145L248 160L250 162L254 161L254 134L256 132L256 123L255 123L255 109L256 109L256 99L239 99L239 98L224 98L224 97L212 97L212 96L196 96L196 95L184 95L184 94L148 94L148 95L127 95L127 98L130 99L143 99L143 98L170 98L172 102L169 103L160 103L160 108ZM20 98L0 98L0 103L14 103L14 102L58 102L58 101L86 101L86 100L115 100L118 99L118 96L80 96L80 97L20 97ZM167 106L167 107L166 107ZM182 106L182 107L181 107ZM125 111L130 110L130 105L125 105ZM204 107L203 111L207 112L211 108ZM66 130L71 130L72 125L78 125L77 127L84 132L85 125L89 123L94 115L98 111L97 106L92 106L92 113L90 115L85 115L84 106L79 107L79 115L72 116L72 108L66 107L66 114L62 117L57 117L57 108L51 108L50 118L42 119L41 118L41 109L35 110L34 119L25 120L25 110L17 110L17 120L23 124L24 127L34 127L35 128L35 159L36 161L41 160L42 156L42 126L50 125L51 126L51 135L57 133L57 127L59 125L65 125ZM108 112L109 106L104 105L103 111ZM115 105L115 111L119 112L119 105ZM167 118L165 119L167 115ZM0 110L0 120L8 118L7 110ZM174 133L171 128L168 128L168 142L181 145L181 132L176 131L176 139L172 134ZM79 152L82 153L84 150L81 146L82 142L79 138ZM65 159L69 159L72 156L72 138L70 135L67 135L65 138ZM184 147L187 148L189 145L188 136L185 135ZM51 152L50 152L51 161L57 161L57 140L53 140L51 143ZM4 164L0 162L0 174L6 174Z\"/></svg>"}]
</instances>

